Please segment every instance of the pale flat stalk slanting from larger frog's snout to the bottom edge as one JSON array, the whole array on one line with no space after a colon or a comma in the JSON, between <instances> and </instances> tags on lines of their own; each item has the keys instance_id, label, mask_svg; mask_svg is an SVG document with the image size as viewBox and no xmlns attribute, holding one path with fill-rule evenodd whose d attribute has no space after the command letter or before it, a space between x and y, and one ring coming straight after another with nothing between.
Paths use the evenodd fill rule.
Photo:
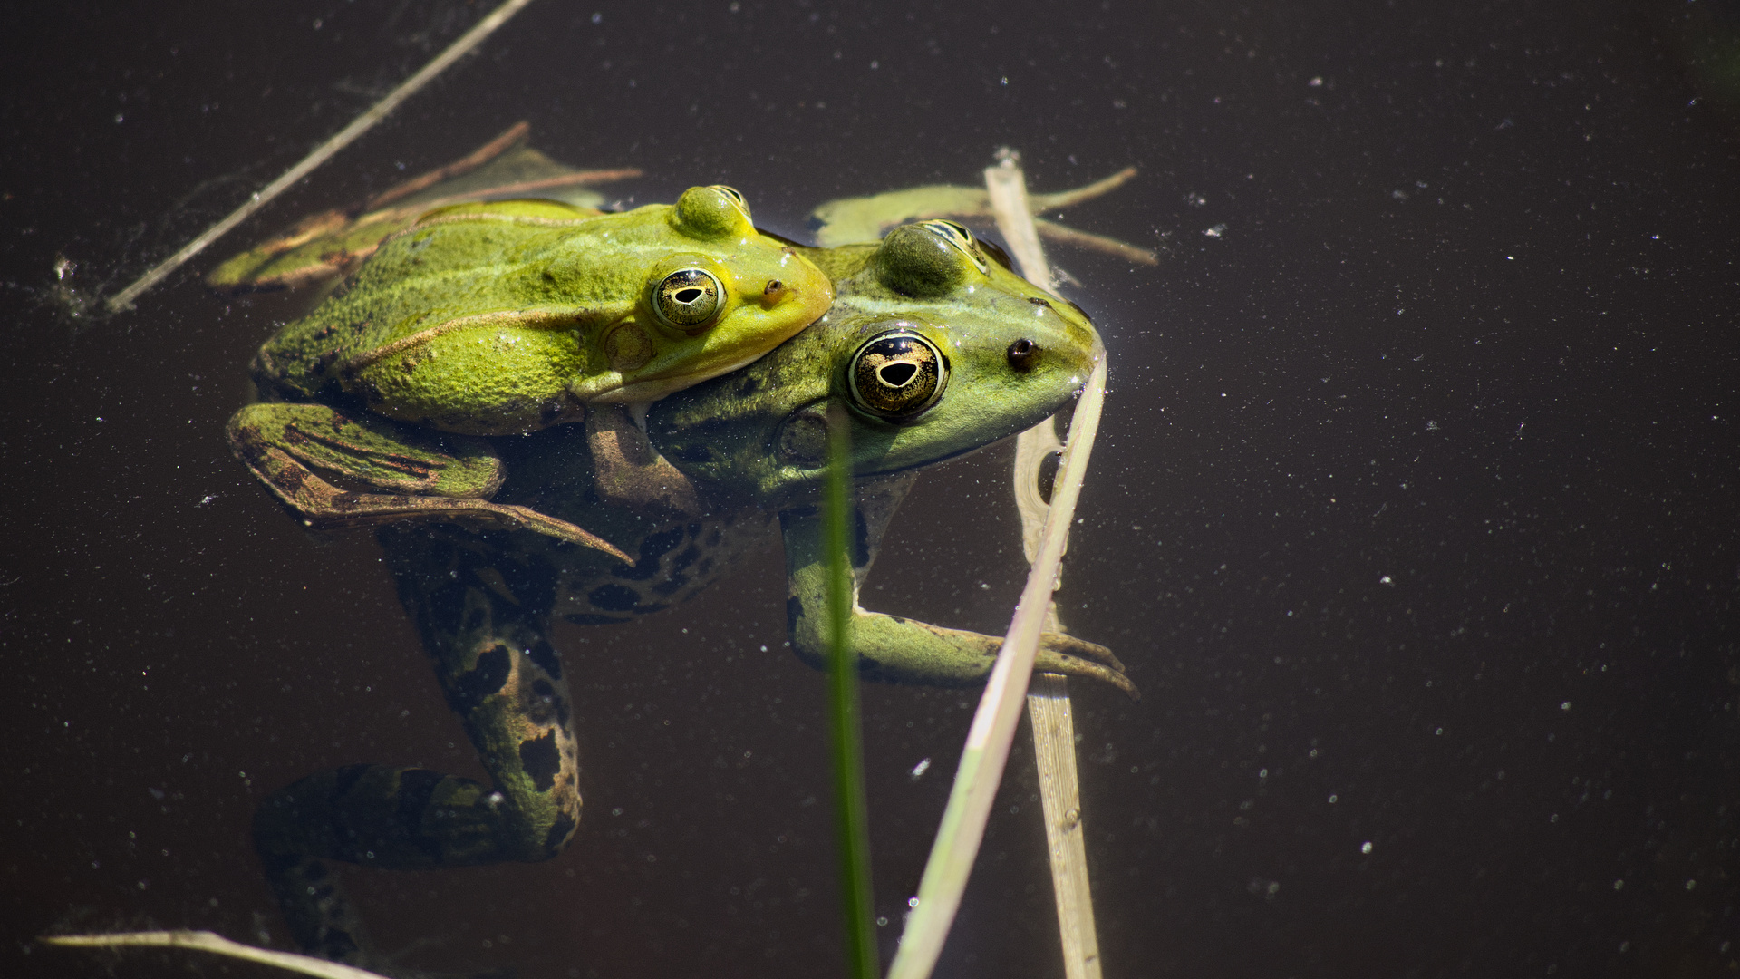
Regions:
<instances>
[{"instance_id":1,"label":"pale flat stalk slanting from larger frog's snout to the bottom edge","mask_svg":"<svg viewBox=\"0 0 1740 979\"><path fill-rule=\"evenodd\" d=\"M1051 606L1051 585L1058 578L1063 544L1068 537L1075 500L1081 495L1088 456L1093 453L1094 432L1100 429L1100 408L1105 401L1105 352L1094 352L1094 371L1088 378L1075 416L1070 420L1070 439L1063 449L1063 465L1051 491L1051 509L1046 530L1039 538L1039 557L1027 575L1021 603L1004 636L997 665L990 671L985 693L980 697L967 744L960 753L955 784L948 791L948 807L931 845L919 881L919 904L907 918L907 930L889 967L889 979L927 979L943 951L943 941L960 908L973 861L985 838L985 822L1009 761L1009 746L1021 718L1023 693L1034 674L1034 657L1039 652L1039 632Z\"/></svg>"}]
</instances>

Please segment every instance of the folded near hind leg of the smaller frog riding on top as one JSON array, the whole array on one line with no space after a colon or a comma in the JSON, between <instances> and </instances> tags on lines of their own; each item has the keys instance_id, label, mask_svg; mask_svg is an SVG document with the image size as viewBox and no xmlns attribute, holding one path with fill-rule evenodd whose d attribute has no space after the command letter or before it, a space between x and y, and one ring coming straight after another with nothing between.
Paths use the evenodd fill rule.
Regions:
<instances>
[{"instance_id":1,"label":"folded near hind leg of the smaller frog riding on top","mask_svg":"<svg viewBox=\"0 0 1740 979\"><path fill-rule=\"evenodd\" d=\"M230 449L308 526L451 521L531 530L633 563L618 547L531 507L491 503L501 458L484 439L432 437L325 404L249 404L230 418ZM378 491L350 491L315 470Z\"/></svg>"}]
</instances>

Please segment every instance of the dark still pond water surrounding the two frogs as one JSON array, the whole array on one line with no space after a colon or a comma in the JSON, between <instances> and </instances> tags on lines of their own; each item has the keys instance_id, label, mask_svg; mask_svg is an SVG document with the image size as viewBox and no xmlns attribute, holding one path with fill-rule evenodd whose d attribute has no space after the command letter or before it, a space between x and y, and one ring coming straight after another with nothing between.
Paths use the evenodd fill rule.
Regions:
<instances>
[{"instance_id":1,"label":"dark still pond water surrounding the two frogs","mask_svg":"<svg viewBox=\"0 0 1740 979\"><path fill-rule=\"evenodd\" d=\"M49 301L57 256L125 284L478 12L10 9L0 970L96 969L30 944L52 930L284 948L258 800L353 761L480 773L374 540L311 538L224 448L292 307L198 275L519 118L644 167L625 199L729 181L793 237L999 146L1035 190L1141 169L1067 219L1157 267L1053 251L1114 388L1061 603L1145 692L1075 685L1107 976L1737 969L1733 3L539 0L137 312ZM920 479L867 604L1002 631L1009 456ZM679 610L560 632L579 834L353 873L381 942L527 979L837 974L823 678L783 599L769 540ZM865 693L884 915L969 700ZM1023 751L940 976L1061 976ZM245 970L118 974L195 969Z\"/></svg>"}]
</instances>

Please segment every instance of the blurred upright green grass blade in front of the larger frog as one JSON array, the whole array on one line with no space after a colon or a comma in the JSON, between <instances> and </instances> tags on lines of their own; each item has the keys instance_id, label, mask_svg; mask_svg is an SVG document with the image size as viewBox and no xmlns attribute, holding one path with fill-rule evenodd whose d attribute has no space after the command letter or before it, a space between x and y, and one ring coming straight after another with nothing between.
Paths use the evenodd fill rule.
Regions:
<instances>
[{"instance_id":1,"label":"blurred upright green grass blade in front of the larger frog","mask_svg":"<svg viewBox=\"0 0 1740 979\"><path fill-rule=\"evenodd\" d=\"M846 916L846 974L875 979L875 890L870 881L870 810L865 801L863 723L858 699L858 657L851 622L858 604L853 585L851 505L853 446L846 409L828 409L828 744L833 753L833 819L840 854L840 911Z\"/></svg>"}]
</instances>

